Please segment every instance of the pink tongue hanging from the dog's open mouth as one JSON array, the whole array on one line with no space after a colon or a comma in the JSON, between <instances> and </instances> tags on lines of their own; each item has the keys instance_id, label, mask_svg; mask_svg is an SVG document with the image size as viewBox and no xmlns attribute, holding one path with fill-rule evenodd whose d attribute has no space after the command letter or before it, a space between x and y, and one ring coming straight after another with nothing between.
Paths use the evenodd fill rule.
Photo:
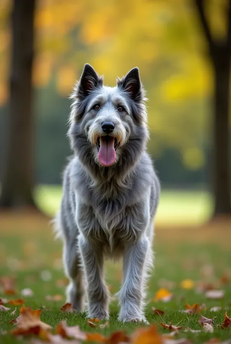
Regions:
<instances>
[{"instance_id":1,"label":"pink tongue hanging from the dog's open mouth","mask_svg":"<svg viewBox=\"0 0 231 344\"><path fill-rule=\"evenodd\" d=\"M116 160L116 151L114 148L115 138L111 136L100 137L100 148L98 151L98 160L103 166L110 166Z\"/></svg>"}]
</instances>

